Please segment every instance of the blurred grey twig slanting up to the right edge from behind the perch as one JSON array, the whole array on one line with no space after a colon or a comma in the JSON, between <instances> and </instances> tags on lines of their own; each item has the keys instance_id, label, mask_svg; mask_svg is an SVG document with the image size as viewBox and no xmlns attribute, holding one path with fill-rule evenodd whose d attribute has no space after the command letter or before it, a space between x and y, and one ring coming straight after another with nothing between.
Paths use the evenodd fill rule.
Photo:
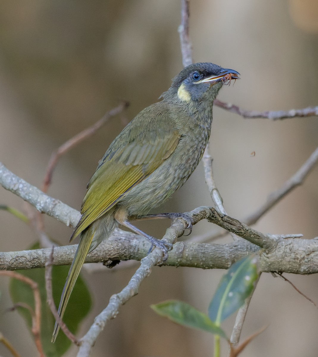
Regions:
<instances>
[{"instance_id":1,"label":"blurred grey twig slanting up to the right edge from behind the perch","mask_svg":"<svg viewBox=\"0 0 318 357\"><path fill-rule=\"evenodd\" d=\"M289 192L291 192L295 187L301 185L304 179L307 177L309 172L313 169L313 167L318 162L318 147L311 154L309 159L301 166L301 168L287 180L282 187L278 188L278 190L272 192L267 201L259 207L254 213L250 216L246 217L243 222L247 225L253 225L256 223L260 217L262 217L270 208L276 205L283 197L285 197Z\"/></svg>"}]
</instances>

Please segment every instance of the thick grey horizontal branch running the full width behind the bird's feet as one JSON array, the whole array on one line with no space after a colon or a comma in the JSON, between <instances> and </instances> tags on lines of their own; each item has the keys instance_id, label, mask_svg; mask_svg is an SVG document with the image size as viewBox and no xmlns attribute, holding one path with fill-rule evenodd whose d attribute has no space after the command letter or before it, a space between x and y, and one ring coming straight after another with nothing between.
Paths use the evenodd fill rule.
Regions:
<instances>
[{"instance_id":1,"label":"thick grey horizontal branch running the full width behind the bird's feet","mask_svg":"<svg viewBox=\"0 0 318 357\"><path fill-rule=\"evenodd\" d=\"M179 222L179 220L178 220ZM180 221L182 224L183 222ZM184 227L184 226L183 226ZM76 245L54 249L53 265L70 265ZM134 233L116 230L107 242L102 242L87 258L87 263L120 260L141 260L146 256L150 243ZM255 253L259 247L245 240L230 244L177 242L163 265L202 269L227 269L238 259ZM51 248L20 252L1 252L0 270L44 267ZM260 256L261 272L281 271L295 274L318 273L318 240L286 238L277 242L275 250Z\"/></svg>"}]
</instances>

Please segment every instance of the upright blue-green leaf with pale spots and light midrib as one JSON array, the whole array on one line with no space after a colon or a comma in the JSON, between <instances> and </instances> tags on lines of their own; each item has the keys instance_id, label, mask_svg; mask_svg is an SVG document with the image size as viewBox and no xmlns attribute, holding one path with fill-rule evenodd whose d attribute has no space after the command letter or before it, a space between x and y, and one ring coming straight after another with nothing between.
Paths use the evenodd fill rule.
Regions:
<instances>
[{"instance_id":1,"label":"upright blue-green leaf with pale spots and light midrib","mask_svg":"<svg viewBox=\"0 0 318 357\"><path fill-rule=\"evenodd\" d=\"M243 305L253 291L257 277L256 258L253 255L235 262L229 268L208 309L209 317L217 326Z\"/></svg>"}]
</instances>

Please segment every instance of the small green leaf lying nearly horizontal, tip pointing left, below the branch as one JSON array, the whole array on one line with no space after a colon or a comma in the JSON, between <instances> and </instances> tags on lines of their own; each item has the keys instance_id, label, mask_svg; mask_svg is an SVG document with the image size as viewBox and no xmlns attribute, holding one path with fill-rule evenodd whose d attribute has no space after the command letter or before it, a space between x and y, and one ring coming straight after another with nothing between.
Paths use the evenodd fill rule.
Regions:
<instances>
[{"instance_id":1,"label":"small green leaf lying nearly horizontal, tip pointing left, below the branch","mask_svg":"<svg viewBox=\"0 0 318 357\"><path fill-rule=\"evenodd\" d=\"M208 316L185 302L167 300L157 305L151 305L151 308L158 315L168 317L180 325L215 333L227 339L224 331L216 326Z\"/></svg>"}]
</instances>

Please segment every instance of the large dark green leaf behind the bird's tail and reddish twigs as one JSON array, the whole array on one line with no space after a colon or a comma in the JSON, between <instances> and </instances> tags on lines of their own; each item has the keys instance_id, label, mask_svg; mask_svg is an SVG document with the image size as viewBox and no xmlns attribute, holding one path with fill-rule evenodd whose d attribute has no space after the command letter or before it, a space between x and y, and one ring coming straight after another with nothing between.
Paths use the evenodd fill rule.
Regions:
<instances>
[{"instance_id":1,"label":"large dark green leaf behind the bird's tail and reddish twigs","mask_svg":"<svg viewBox=\"0 0 318 357\"><path fill-rule=\"evenodd\" d=\"M31 249L39 248L39 244L32 246ZM53 284L53 298L56 306L60 303L61 293L64 287L69 266L54 266L52 269L52 284ZM51 343L52 332L54 328L55 319L46 302L45 290L45 269L35 268L30 270L20 270L19 273L36 281L39 285L41 295L41 341L43 350L47 357L62 356L71 346L71 341L60 330L55 343ZM10 281L10 295L13 303L24 302L34 309L34 296L31 287L19 280L11 279ZM86 287L85 282L79 276L72 291L70 301L63 318L67 327L72 333L76 333L80 322L84 319L91 307L91 296ZM31 315L25 308L17 308L22 317L25 318L27 326L31 331Z\"/></svg>"}]
</instances>

